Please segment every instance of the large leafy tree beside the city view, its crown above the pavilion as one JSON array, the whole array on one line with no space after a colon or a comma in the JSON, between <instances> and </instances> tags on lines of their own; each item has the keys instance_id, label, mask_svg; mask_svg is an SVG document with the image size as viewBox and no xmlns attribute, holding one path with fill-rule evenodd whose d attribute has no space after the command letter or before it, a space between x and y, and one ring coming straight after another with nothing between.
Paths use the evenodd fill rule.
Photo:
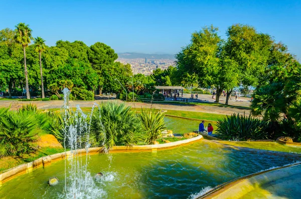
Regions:
<instances>
[{"instance_id":1,"label":"large leafy tree beside the city view, its crown above the pavilion","mask_svg":"<svg viewBox=\"0 0 301 199\"><path fill-rule=\"evenodd\" d=\"M204 27L200 32L192 34L191 44L176 55L177 68L183 74L185 82L192 83L196 79L200 87L216 88L216 102L223 91L221 82L221 53L222 40L218 28Z\"/></svg>"}]
</instances>

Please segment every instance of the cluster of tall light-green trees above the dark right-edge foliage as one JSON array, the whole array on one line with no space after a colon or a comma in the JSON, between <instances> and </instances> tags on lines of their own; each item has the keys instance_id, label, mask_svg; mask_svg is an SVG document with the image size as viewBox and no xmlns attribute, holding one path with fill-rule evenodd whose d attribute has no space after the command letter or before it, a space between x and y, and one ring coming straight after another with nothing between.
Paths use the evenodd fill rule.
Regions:
<instances>
[{"instance_id":1,"label":"cluster of tall light-green trees above the dark right-edge foliage","mask_svg":"<svg viewBox=\"0 0 301 199\"><path fill-rule=\"evenodd\" d=\"M228 104L234 87L259 87L299 65L284 44L253 27L235 24L226 35L227 39L221 39L213 26L192 34L191 43L176 55L182 84L216 88L216 102L225 90Z\"/></svg>"}]
</instances>

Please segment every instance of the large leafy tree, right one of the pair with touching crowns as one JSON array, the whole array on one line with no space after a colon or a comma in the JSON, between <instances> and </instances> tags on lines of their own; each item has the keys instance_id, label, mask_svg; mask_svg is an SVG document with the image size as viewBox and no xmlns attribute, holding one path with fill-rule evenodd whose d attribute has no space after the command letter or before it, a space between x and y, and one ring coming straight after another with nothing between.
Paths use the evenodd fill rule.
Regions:
<instances>
[{"instance_id":1,"label":"large leafy tree, right one of the pair with touching crowns","mask_svg":"<svg viewBox=\"0 0 301 199\"><path fill-rule=\"evenodd\" d=\"M232 76L226 86L228 104L232 89L236 86L257 86L259 77L264 73L273 41L269 35L257 33L255 28L234 24L226 32L228 36L222 55L226 63L235 68L237 75ZM232 70L233 71L233 70ZM230 73L231 76L231 73ZM234 83L235 82L235 83Z\"/></svg>"}]
</instances>

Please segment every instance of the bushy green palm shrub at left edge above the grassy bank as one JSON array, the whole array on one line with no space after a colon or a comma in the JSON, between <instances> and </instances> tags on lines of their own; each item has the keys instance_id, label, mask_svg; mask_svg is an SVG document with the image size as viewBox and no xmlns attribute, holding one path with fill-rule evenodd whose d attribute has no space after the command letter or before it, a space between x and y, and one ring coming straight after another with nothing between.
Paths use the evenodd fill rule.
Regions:
<instances>
[{"instance_id":1,"label":"bushy green palm shrub at left edge above the grassy bank","mask_svg":"<svg viewBox=\"0 0 301 199\"><path fill-rule=\"evenodd\" d=\"M41 133L38 120L33 115L7 112L0 117L0 157L36 150L34 142Z\"/></svg>"}]
</instances>

